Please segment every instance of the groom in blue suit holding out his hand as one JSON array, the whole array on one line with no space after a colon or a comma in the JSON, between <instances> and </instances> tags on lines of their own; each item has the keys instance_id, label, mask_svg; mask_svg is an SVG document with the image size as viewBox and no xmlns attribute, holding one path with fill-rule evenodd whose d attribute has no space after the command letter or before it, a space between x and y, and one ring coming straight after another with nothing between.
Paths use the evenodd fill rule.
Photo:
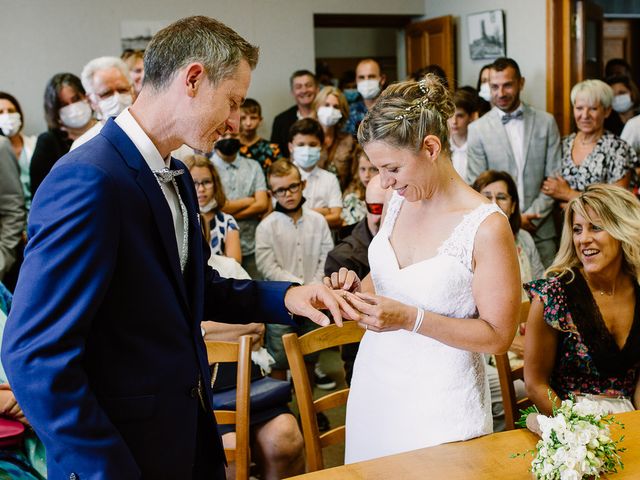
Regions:
<instances>
[{"instance_id":1,"label":"groom in blue suit holding out his hand","mask_svg":"<svg viewBox=\"0 0 640 480\"><path fill-rule=\"evenodd\" d=\"M206 17L160 31L136 103L35 196L2 362L50 480L224 478L200 322L340 322L323 286L206 266L193 181L170 152L237 129L257 48Z\"/></svg>"}]
</instances>

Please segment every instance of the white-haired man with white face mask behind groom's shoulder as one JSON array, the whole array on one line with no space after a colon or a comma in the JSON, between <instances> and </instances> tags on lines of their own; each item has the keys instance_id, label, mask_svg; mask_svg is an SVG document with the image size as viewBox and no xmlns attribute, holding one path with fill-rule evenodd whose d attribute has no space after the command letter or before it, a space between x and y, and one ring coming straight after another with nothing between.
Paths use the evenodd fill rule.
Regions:
<instances>
[{"instance_id":1,"label":"white-haired man with white face mask behind groom's shoulder","mask_svg":"<svg viewBox=\"0 0 640 480\"><path fill-rule=\"evenodd\" d=\"M84 66L80 79L99 121L74 140L71 150L95 137L109 117L117 117L133 100L129 67L117 57L94 58Z\"/></svg>"}]
</instances>

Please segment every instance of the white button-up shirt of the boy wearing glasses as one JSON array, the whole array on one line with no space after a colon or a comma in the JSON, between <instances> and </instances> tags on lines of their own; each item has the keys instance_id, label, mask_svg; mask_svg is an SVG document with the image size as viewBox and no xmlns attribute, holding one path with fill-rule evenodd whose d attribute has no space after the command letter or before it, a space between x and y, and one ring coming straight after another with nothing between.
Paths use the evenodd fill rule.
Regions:
<instances>
[{"instance_id":1,"label":"white button-up shirt of the boy wearing glasses","mask_svg":"<svg viewBox=\"0 0 640 480\"><path fill-rule=\"evenodd\" d=\"M256 264L265 280L322 283L332 248L327 221L306 205L297 222L285 213L273 212L256 229Z\"/></svg>"}]
</instances>

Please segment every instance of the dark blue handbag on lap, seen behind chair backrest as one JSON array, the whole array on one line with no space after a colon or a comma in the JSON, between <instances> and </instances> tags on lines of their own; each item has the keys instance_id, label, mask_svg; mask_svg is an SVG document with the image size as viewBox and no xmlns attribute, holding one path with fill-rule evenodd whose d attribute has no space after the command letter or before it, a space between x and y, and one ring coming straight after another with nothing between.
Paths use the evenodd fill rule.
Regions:
<instances>
[{"instance_id":1,"label":"dark blue handbag on lap, seen behind chair backrest","mask_svg":"<svg viewBox=\"0 0 640 480\"><path fill-rule=\"evenodd\" d=\"M251 382L249 408L262 411L291 401L291 384L284 380L262 377ZM235 410L236 389L224 390L213 394L214 410Z\"/></svg>"}]
</instances>

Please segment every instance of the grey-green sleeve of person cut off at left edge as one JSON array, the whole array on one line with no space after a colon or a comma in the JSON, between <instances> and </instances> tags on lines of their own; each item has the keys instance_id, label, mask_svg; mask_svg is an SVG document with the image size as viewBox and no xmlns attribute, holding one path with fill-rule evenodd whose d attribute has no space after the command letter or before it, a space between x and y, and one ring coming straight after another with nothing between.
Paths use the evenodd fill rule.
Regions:
<instances>
[{"instance_id":1,"label":"grey-green sleeve of person cut off at left edge","mask_svg":"<svg viewBox=\"0 0 640 480\"><path fill-rule=\"evenodd\" d=\"M18 161L9 140L0 136L0 280L16 260L25 215Z\"/></svg>"}]
</instances>

